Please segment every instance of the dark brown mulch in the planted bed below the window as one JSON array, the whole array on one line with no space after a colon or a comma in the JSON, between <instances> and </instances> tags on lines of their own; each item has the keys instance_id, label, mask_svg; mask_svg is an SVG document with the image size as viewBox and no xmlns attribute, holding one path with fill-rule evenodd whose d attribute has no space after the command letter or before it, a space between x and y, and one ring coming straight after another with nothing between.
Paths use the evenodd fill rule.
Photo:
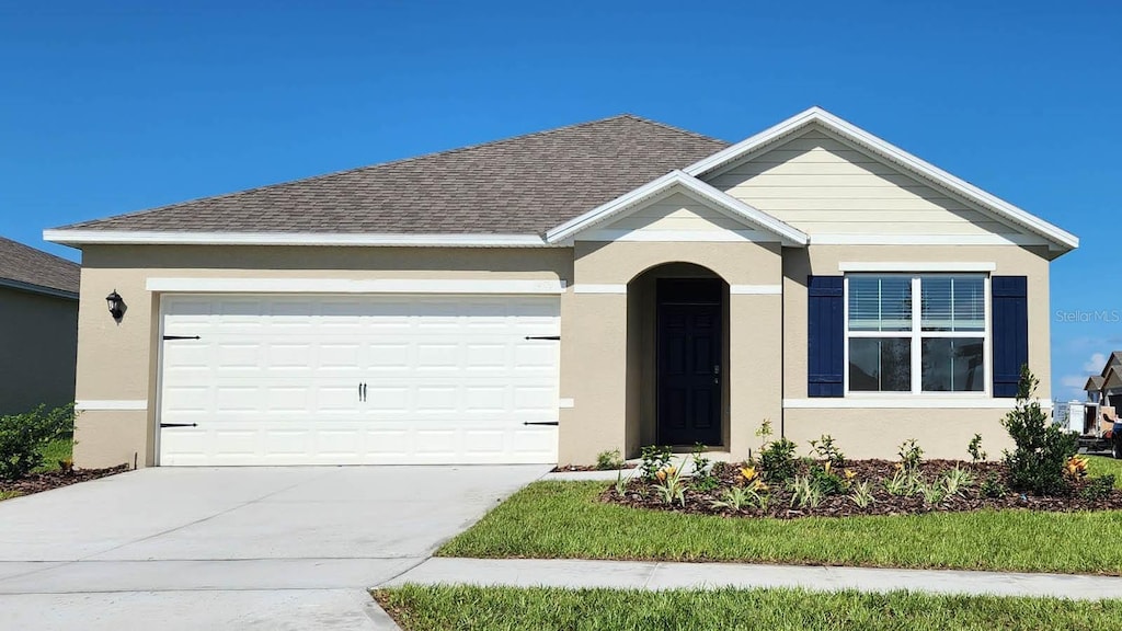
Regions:
<instances>
[{"instance_id":1,"label":"dark brown mulch in the planted bed below the window","mask_svg":"<svg viewBox=\"0 0 1122 631\"><path fill-rule=\"evenodd\" d=\"M687 488L686 505L677 502L666 505L654 492L653 486L636 476L632 479L625 493L620 496L616 493L615 486L608 488L600 495L603 502L622 504L636 509L653 509L661 511L673 511L688 514L711 514L742 518L779 518L795 519L803 516L854 516L854 515L907 515L925 513L946 513L978 511L983 509L1027 509L1033 511L1116 511L1122 510L1122 491L1113 490L1105 497L1088 499L1082 492L1091 483L1091 479L1073 479L1070 493L1063 496L1036 496L1009 491L1009 482L1005 466L1000 463L966 463L959 460L926 460L920 465L920 473L926 482L932 482L941 477L946 472L958 466L968 470L974 479L966 488L959 490L954 495L947 495L936 504L929 504L922 495L899 496L892 495L884 488L884 482L892 478L896 473L896 464L889 460L850 460L843 467L835 467L834 470L844 475L844 469L849 469L856 475L853 482L867 481L873 493L874 501L866 507L859 507L850 499L850 493L844 492L838 495L827 495L818 506L792 506L791 492L785 484L772 484L770 490L770 505L766 511L758 509L742 509L733 511L729 509L716 509L712 502L720 499L724 491L730 486L741 484L739 467L742 465L728 466L724 470L718 469L719 485L710 491L696 491ZM808 473L809 465L800 464L799 475ZM999 482L1006 487L1004 493L996 496L987 496L982 492L983 482L987 478ZM687 479L687 486L695 481Z\"/></svg>"}]
</instances>

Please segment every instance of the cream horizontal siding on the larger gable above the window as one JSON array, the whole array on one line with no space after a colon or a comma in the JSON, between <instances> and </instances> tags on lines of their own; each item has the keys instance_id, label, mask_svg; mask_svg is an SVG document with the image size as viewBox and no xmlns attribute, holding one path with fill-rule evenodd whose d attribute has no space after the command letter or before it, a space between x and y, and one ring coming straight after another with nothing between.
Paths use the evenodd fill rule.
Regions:
<instances>
[{"instance_id":1,"label":"cream horizontal siding on the larger gable above the window","mask_svg":"<svg viewBox=\"0 0 1122 631\"><path fill-rule=\"evenodd\" d=\"M703 179L811 236L1018 234L820 130Z\"/></svg>"}]
</instances>

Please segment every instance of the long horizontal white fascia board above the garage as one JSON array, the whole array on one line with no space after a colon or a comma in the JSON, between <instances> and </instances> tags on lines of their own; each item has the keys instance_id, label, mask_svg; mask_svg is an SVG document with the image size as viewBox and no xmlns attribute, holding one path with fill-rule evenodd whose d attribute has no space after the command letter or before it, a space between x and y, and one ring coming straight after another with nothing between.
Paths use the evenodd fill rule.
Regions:
<instances>
[{"instance_id":1,"label":"long horizontal white fascia board above the garage","mask_svg":"<svg viewBox=\"0 0 1122 631\"><path fill-rule=\"evenodd\" d=\"M47 241L81 245L237 245L237 246L417 246L542 247L539 235L399 235L321 232L164 232L131 230L44 230Z\"/></svg>"}]
</instances>

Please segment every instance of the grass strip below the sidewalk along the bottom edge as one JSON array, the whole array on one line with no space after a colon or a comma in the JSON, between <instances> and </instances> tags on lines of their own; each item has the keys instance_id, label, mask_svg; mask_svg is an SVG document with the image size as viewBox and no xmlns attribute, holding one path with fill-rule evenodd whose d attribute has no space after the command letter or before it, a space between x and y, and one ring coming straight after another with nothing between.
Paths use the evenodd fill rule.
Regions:
<instances>
[{"instance_id":1,"label":"grass strip below the sidewalk along the bottom edge","mask_svg":"<svg viewBox=\"0 0 1122 631\"><path fill-rule=\"evenodd\" d=\"M416 586L375 598L405 631L514 629L1100 630L1116 628L1122 601L946 596L800 589L636 592Z\"/></svg>"}]
</instances>

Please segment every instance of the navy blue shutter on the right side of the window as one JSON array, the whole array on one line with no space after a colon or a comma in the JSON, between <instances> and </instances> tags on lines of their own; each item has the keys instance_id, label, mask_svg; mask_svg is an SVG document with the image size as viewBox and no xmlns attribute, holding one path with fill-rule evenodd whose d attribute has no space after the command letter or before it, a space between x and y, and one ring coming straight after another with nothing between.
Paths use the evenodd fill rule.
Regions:
<instances>
[{"instance_id":1,"label":"navy blue shutter on the right side of the window","mask_svg":"<svg viewBox=\"0 0 1122 631\"><path fill-rule=\"evenodd\" d=\"M993 276L993 395L1017 396L1021 366L1029 363L1029 282L1024 276Z\"/></svg>"}]
</instances>

